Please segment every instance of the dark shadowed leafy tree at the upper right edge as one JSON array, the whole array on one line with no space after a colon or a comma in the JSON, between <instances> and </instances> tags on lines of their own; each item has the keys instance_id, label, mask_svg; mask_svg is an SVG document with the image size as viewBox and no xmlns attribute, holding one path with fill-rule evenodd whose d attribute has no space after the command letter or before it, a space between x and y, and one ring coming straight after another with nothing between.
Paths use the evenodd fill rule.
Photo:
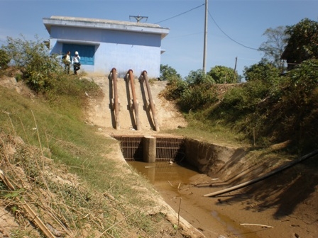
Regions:
<instances>
[{"instance_id":1,"label":"dark shadowed leafy tree at the upper right edge","mask_svg":"<svg viewBox=\"0 0 318 238\"><path fill-rule=\"evenodd\" d=\"M282 59L287 60L287 69L293 69L295 65L305 60L318 59L318 22L308 18L302 19L294 26L287 26L285 30L287 46Z\"/></svg>"}]
</instances>

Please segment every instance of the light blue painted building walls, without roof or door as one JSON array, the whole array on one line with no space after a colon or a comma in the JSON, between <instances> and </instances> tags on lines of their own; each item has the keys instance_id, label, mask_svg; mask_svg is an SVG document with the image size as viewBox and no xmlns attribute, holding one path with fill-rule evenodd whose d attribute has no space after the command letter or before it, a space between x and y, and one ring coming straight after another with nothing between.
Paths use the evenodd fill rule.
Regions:
<instances>
[{"instance_id":1,"label":"light blue painted building walls, without roof or door","mask_svg":"<svg viewBox=\"0 0 318 238\"><path fill-rule=\"evenodd\" d=\"M150 78L159 77L160 34L52 26L50 37L50 52L56 54L62 54L63 43L94 45L94 65L82 64L86 72L109 74L115 67L119 77L124 77L128 69L133 69L136 77L143 70Z\"/></svg>"}]
</instances>

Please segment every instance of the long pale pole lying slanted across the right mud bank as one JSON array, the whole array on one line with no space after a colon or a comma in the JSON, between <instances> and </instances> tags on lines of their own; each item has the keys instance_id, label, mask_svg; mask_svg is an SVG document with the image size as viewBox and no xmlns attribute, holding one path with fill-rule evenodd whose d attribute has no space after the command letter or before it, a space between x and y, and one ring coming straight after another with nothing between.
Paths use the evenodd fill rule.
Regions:
<instances>
[{"instance_id":1,"label":"long pale pole lying slanted across the right mud bank","mask_svg":"<svg viewBox=\"0 0 318 238\"><path fill-rule=\"evenodd\" d=\"M236 190L236 189L238 189L238 188L246 187L246 186L248 186L248 185L251 185L251 184L253 184L253 183L256 183L256 182L258 182L258 181L261 181L261 180L263 180L263 179L266 179L266 178L268 178L269 176L272 176L273 174L277 174L278 172L283 171L284 169L290 168L291 166L294 166L295 164L298 164L298 163L304 161L305 159L308 159L308 158L310 158L310 157L313 157L313 156L316 155L316 154L318 154L318 149L314 150L313 152L311 152L311 153L309 153L309 154L306 154L306 155L303 156L303 157L300 157L300 158L298 158L298 159L295 159L293 162L290 162L290 163L288 163L288 164L285 164L285 165L283 165L283 166L280 166L280 167L278 167L277 169L274 169L273 171L270 171L268 174L265 174L265 175L263 175L263 176L261 176L261 177L258 177L258 178L256 178L256 179L252 179L252 180L247 181L247 182L245 182L245 183L238 184L238 185L233 186L233 187L231 187L231 188L226 188L226 189L221 190L221 191L217 191L217 192L214 192L214 193L205 194L204 197L214 197L214 196L221 195L221 194L223 194L223 193L229 193L229 192L234 191L234 190Z\"/></svg>"}]
</instances>

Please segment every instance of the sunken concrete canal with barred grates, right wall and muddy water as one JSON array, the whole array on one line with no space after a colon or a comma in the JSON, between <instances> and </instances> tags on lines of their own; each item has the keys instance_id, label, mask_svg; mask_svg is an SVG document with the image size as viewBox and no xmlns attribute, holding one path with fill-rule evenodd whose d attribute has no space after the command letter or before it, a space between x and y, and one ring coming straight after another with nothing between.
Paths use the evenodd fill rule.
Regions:
<instances>
[{"instance_id":1,"label":"sunken concrete canal with barred grates, right wall and muddy water","mask_svg":"<svg viewBox=\"0 0 318 238\"><path fill-rule=\"evenodd\" d=\"M217 172L222 171L229 160L242 157L243 149L224 148L182 137L155 137L156 160L148 163L143 162L145 139L142 136L116 136L116 139L121 141L128 164L153 183L166 203L206 237L258 237L256 232L223 213L229 205L222 202L224 197L204 197L204 194L224 188L223 178L214 174L219 174Z\"/></svg>"}]
</instances>

